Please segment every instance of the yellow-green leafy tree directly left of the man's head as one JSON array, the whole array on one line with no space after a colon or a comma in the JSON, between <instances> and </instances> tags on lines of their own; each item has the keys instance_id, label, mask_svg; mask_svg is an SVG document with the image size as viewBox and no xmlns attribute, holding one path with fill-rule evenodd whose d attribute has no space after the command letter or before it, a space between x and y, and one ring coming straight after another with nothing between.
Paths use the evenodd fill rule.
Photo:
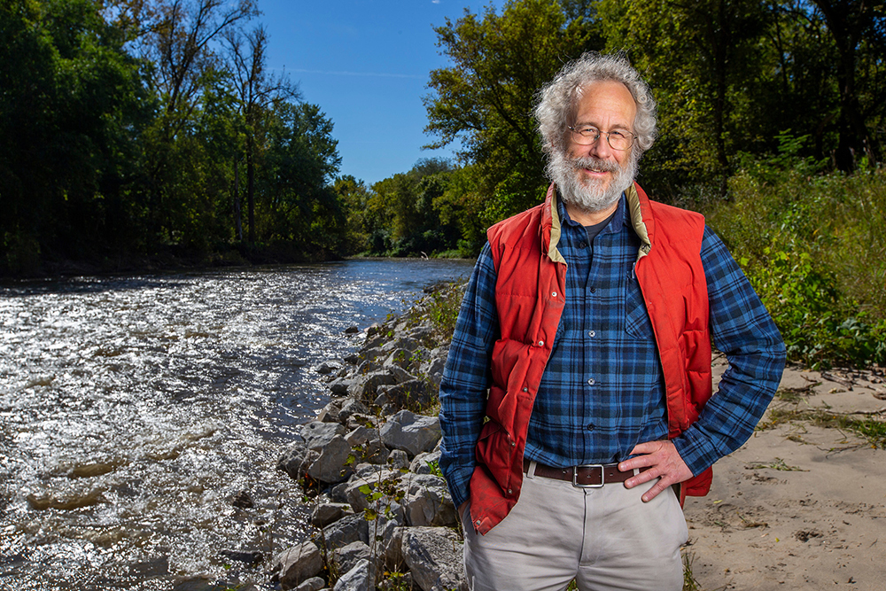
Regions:
<instances>
[{"instance_id":1,"label":"yellow-green leafy tree directly left of the man's head","mask_svg":"<svg viewBox=\"0 0 886 591\"><path fill-rule=\"evenodd\" d=\"M568 21L554 0L511 0L501 15L466 11L435 30L452 66L431 72L425 132L438 139L429 147L461 142L488 211L514 214L537 203L547 182L533 98L566 61L602 48L595 23Z\"/></svg>"}]
</instances>

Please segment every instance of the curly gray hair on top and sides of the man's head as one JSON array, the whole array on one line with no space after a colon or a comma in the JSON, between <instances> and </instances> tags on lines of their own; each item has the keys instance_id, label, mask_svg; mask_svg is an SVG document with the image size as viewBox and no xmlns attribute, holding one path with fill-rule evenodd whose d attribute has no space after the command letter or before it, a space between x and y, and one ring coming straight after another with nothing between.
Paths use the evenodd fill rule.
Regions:
<instances>
[{"instance_id":1,"label":"curly gray hair on top and sides of the man's head","mask_svg":"<svg viewBox=\"0 0 886 591\"><path fill-rule=\"evenodd\" d=\"M571 61L548 82L536 95L535 119L539 121L539 131L543 140L542 149L551 152L565 152L567 128L574 122L581 90L593 82L621 82L631 92L637 104L637 115L633 121L633 133L637 142L633 146L633 159L640 159L656 141L656 101L649 85L633 69L624 53L604 55L589 51Z\"/></svg>"}]
</instances>

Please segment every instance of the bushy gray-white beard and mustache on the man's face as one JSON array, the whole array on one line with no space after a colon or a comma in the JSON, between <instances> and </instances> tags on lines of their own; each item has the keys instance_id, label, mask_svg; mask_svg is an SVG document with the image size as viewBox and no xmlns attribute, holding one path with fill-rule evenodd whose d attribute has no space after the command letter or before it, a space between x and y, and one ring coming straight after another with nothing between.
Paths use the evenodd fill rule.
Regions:
<instances>
[{"instance_id":1,"label":"bushy gray-white beard and mustache on the man's face","mask_svg":"<svg viewBox=\"0 0 886 591\"><path fill-rule=\"evenodd\" d=\"M548 163L548 175L560 189L563 201L587 212L600 212L612 206L631 186L637 175L637 152L631 153L625 167L618 162L596 158L572 158L565 152L555 152ZM581 178L581 169L590 168L614 173L609 183L605 179Z\"/></svg>"}]
</instances>

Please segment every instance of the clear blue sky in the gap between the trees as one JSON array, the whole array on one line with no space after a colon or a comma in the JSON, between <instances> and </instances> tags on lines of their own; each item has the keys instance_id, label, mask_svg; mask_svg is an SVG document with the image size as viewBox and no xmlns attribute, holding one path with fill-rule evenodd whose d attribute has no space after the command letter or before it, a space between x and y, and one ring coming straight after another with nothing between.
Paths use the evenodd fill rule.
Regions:
<instances>
[{"instance_id":1,"label":"clear blue sky in the gap between the trees","mask_svg":"<svg viewBox=\"0 0 886 591\"><path fill-rule=\"evenodd\" d=\"M284 70L308 103L335 124L341 174L367 184L408 171L422 150L422 97L432 69L447 66L434 26L490 0L259 0L268 30L268 67ZM503 0L492 0L501 12Z\"/></svg>"}]
</instances>

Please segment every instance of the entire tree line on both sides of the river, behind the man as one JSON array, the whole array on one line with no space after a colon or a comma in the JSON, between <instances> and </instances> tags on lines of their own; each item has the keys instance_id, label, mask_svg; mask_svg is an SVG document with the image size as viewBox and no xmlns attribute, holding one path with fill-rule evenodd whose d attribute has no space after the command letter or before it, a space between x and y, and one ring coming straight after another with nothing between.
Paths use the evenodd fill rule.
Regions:
<instances>
[{"instance_id":1,"label":"entire tree line on both sides of the river, behind the man","mask_svg":"<svg viewBox=\"0 0 886 591\"><path fill-rule=\"evenodd\" d=\"M882 0L466 11L435 27L449 65L424 97L428 147L455 159L371 186L340 174L332 121L268 70L256 2L4 2L0 270L164 249L473 256L489 225L542 198L534 94L584 51L626 51L649 80L661 135L639 180L660 200L728 203L734 179L773 162L882 162Z\"/></svg>"}]
</instances>

